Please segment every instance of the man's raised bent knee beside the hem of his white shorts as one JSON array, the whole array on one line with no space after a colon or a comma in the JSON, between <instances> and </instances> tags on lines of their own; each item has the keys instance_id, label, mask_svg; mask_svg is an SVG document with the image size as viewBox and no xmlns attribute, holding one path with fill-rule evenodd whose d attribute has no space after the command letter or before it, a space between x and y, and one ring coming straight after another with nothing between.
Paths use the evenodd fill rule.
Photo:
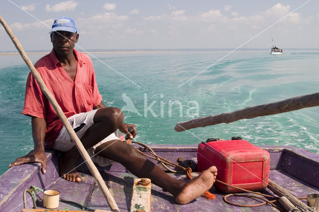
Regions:
<instances>
[{"instance_id":1,"label":"man's raised bent knee beside the hem of his white shorts","mask_svg":"<svg viewBox=\"0 0 319 212\"><path fill-rule=\"evenodd\" d=\"M108 125L111 124L114 127L114 131L118 129L123 123L124 115L123 112L116 107L106 107L98 109L95 113L93 121L94 123L103 121Z\"/></svg>"}]
</instances>

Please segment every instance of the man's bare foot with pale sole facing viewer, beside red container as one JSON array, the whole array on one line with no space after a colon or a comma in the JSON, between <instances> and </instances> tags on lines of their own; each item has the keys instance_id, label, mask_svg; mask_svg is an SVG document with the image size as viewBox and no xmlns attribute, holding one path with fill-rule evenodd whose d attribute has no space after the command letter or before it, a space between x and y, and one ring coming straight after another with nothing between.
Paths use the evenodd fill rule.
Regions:
<instances>
[{"instance_id":1,"label":"man's bare foot with pale sole facing viewer, beside red container","mask_svg":"<svg viewBox=\"0 0 319 212\"><path fill-rule=\"evenodd\" d=\"M193 180L187 181L181 192L175 196L177 204L187 204L208 191L215 182L217 168L211 166Z\"/></svg>"}]
</instances>

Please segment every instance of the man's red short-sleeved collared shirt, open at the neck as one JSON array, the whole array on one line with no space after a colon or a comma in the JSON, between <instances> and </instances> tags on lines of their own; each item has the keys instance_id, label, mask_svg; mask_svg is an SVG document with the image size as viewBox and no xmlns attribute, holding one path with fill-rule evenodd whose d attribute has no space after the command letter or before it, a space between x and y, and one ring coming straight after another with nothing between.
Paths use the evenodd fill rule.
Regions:
<instances>
[{"instance_id":1,"label":"man's red short-sleeved collared shirt, open at the neck","mask_svg":"<svg viewBox=\"0 0 319 212\"><path fill-rule=\"evenodd\" d=\"M91 111L102 101L91 59L75 49L74 53L78 61L74 82L62 68L53 49L50 54L39 59L34 65L67 118L77 113ZM26 81L22 113L45 119L44 142L47 148L51 148L63 123L42 93L31 72Z\"/></svg>"}]
</instances>

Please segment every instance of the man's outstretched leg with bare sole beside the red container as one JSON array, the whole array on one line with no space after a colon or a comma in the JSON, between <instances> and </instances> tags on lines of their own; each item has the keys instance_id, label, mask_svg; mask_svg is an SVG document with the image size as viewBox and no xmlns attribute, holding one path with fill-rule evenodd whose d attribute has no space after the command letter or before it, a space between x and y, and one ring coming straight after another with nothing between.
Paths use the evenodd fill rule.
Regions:
<instances>
[{"instance_id":1,"label":"man's outstretched leg with bare sole beside the red container","mask_svg":"<svg viewBox=\"0 0 319 212\"><path fill-rule=\"evenodd\" d=\"M99 156L121 163L139 178L150 178L152 183L172 194L178 204L187 204L208 191L217 175L217 168L212 166L193 180L178 181L142 156L133 146L121 140L103 143L95 152Z\"/></svg>"}]
</instances>

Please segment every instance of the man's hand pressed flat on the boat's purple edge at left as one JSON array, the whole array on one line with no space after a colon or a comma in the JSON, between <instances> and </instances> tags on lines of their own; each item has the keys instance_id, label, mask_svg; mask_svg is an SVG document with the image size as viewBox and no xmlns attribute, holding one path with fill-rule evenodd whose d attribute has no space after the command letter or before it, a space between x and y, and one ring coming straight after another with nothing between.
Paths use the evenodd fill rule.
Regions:
<instances>
[{"instance_id":1,"label":"man's hand pressed flat on the boat's purple edge at left","mask_svg":"<svg viewBox=\"0 0 319 212\"><path fill-rule=\"evenodd\" d=\"M42 173L45 174L46 161L47 161L47 159L45 157L44 151L33 151L33 152L23 156L23 157L19 157L19 158L15 159L15 161L13 163L11 163L9 165L9 167L18 166L18 165L24 164L24 163L38 162L38 163L41 163Z\"/></svg>"}]
</instances>

